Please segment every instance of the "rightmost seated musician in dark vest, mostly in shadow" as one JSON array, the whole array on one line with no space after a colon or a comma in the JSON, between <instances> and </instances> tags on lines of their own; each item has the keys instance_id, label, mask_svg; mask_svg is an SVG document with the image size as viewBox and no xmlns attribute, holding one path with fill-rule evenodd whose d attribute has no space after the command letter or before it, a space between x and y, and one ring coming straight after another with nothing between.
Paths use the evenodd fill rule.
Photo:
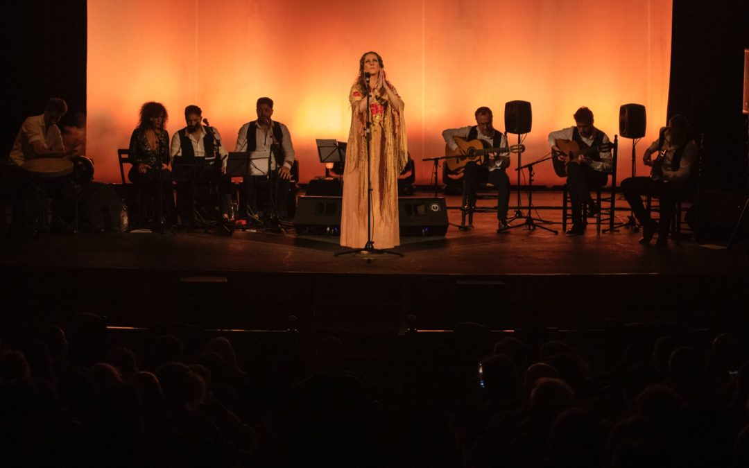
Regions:
<instances>
[{"instance_id":1,"label":"rightmost seated musician in dark vest, mostly in shadow","mask_svg":"<svg viewBox=\"0 0 749 468\"><path fill-rule=\"evenodd\" d=\"M622 180L622 193L632 207L634 216L643 226L640 243L649 243L658 231L655 245L666 247L670 219L676 211L676 201L691 190L694 162L698 148L694 140L688 138L689 123L683 115L674 115L668 127L661 129L660 136L645 150L643 162L652 166L650 177L628 177ZM653 154L658 154L654 161ZM640 195L651 195L660 201L661 222L656 223L643 206Z\"/></svg>"}]
</instances>

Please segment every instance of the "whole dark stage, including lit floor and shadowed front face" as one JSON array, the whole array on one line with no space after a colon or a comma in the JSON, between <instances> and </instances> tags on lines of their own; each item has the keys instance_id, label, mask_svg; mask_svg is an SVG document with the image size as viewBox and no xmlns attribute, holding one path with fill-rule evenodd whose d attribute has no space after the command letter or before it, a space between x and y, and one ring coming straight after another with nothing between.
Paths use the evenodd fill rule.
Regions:
<instances>
[{"instance_id":1,"label":"whole dark stage, including lit floor and shadowed front face","mask_svg":"<svg viewBox=\"0 0 749 468\"><path fill-rule=\"evenodd\" d=\"M539 192L534 201L553 207L560 198ZM449 207L459 201L446 198ZM745 248L683 239L656 249L637 243L640 233L629 228L597 235L595 223L583 237L569 237L560 210L533 213L560 234L525 227L497 234L495 214L476 213L469 231L451 225L444 237L404 237L396 249L403 258L336 257L337 237L261 231L7 239L0 246L4 317L57 321L91 312L112 326L177 319L205 328L286 329L293 314L300 327L382 332L403 332L412 314L419 329L461 321L494 329L597 329L610 318L709 328L743 322ZM458 223L460 211L449 210L449 220ZM190 277L213 281L181 281Z\"/></svg>"}]
</instances>

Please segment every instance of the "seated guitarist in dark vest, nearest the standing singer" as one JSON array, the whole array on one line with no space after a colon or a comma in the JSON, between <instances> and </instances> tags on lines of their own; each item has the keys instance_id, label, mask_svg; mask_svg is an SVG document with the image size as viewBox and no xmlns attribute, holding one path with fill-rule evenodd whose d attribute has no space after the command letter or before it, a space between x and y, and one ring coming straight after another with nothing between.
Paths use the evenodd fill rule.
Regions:
<instances>
[{"instance_id":1,"label":"seated guitarist in dark vest, nearest the standing singer","mask_svg":"<svg viewBox=\"0 0 749 468\"><path fill-rule=\"evenodd\" d=\"M503 133L498 132L492 126L494 115L486 106L479 107L474 113L476 125L461 128L449 128L444 130L442 138L446 145L455 151L455 154L465 154L455 143L455 137L467 140L482 140L489 148L507 148L507 139ZM508 155L505 152L502 155ZM479 171L488 171L488 181L497 187L497 231L507 227L507 210L510 199L510 179L501 165L501 159L497 153L488 154L488 165L479 165L475 161L469 161L464 168L463 193L465 194L466 206L464 210L476 208L476 183L479 179Z\"/></svg>"}]
</instances>

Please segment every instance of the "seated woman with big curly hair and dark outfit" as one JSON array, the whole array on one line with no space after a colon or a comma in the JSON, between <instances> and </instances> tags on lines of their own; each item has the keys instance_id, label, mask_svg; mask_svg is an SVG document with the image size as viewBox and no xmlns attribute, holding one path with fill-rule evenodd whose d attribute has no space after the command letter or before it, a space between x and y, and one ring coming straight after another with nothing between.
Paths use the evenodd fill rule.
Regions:
<instances>
[{"instance_id":1,"label":"seated woman with big curly hair and dark outfit","mask_svg":"<svg viewBox=\"0 0 749 468\"><path fill-rule=\"evenodd\" d=\"M175 198L172 193L172 173L169 165L169 133L166 121L169 115L161 103L143 104L140 121L130 136L130 162L133 167L127 177L139 187L142 194L155 195L159 186L164 193L169 222L175 222ZM160 213L157 209L157 213Z\"/></svg>"}]
</instances>

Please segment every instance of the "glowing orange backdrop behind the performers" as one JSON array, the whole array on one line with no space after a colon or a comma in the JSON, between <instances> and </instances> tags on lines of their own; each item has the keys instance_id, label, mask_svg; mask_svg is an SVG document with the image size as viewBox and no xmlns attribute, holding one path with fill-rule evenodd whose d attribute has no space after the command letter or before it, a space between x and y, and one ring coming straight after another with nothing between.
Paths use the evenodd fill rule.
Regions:
<instances>
[{"instance_id":1,"label":"glowing orange backdrop behind the performers","mask_svg":"<svg viewBox=\"0 0 749 468\"><path fill-rule=\"evenodd\" d=\"M665 124L670 37L670 0L89 0L88 156L97 180L117 181L116 149L148 100L169 110L170 133L185 106L201 106L233 150L255 100L269 96L307 182L324 173L315 139L348 138L348 91L368 50L406 103L418 183L430 180L421 159L443 155L443 129L490 106L503 130L509 100L533 106L523 162L547 154L548 133L571 126L579 106L613 139L619 106L643 104L649 142ZM621 139L619 180L630 154ZM549 162L536 175L561 182Z\"/></svg>"}]
</instances>

